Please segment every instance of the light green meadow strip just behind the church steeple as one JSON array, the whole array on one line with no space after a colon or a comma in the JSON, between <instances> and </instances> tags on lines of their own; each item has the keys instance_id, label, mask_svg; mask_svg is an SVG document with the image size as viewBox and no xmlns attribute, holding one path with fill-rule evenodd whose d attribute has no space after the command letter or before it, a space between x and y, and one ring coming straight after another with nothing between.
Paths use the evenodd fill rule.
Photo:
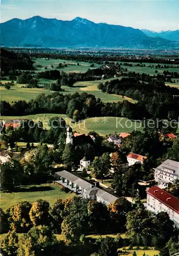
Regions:
<instances>
[{"instance_id":1,"label":"light green meadow strip just behind the church steeple","mask_svg":"<svg viewBox=\"0 0 179 256\"><path fill-rule=\"evenodd\" d=\"M66 115L58 114L38 114L38 115L29 115L29 116L2 116L1 119L32 119L37 121L38 119L43 122L43 126L48 129L48 119L51 117L62 117L67 124L69 124L73 132L79 133L89 133L90 131L96 131L101 136L106 136L107 134L112 134L117 132L131 133L135 129L137 131L142 131L139 122L131 121L127 118L121 117L94 117L87 118L81 123L72 123L71 119Z\"/></svg>"}]
</instances>

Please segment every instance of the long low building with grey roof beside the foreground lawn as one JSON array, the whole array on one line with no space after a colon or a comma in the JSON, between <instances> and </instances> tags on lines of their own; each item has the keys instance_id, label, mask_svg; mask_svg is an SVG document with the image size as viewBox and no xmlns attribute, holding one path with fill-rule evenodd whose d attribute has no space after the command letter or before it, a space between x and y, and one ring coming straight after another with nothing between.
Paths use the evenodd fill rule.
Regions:
<instances>
[{"instance_id":1,"label":"long low building with grey roof beside the foreground lawn","mask_svg":"<svg viewBox=\"0 0 179 256\"><path fill-rule=\"evenodd\" d=\"M107 191L92 185L86 180L69 173L66 170L55 173L55 177L58 178L56 182L81 194L86 199L93 199L105 205L114 203L118 199L118 197L111 195ZM98 185L98 183L96 183L96 185Z\"/></svg>"}]
</instances>

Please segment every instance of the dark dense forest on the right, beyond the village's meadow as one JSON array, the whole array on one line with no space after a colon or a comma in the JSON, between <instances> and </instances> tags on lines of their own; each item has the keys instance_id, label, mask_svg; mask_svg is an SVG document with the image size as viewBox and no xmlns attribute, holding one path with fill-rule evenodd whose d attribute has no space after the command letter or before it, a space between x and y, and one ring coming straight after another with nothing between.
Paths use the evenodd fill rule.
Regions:
<instances>
[{"instance_id":1,"label":"dark dense forest on the right, beyond the village's meadow","mask_svg":"<svg viewBox=\"0 0 179 256\"><path fill-rule=\"evenodd\" d=\"M177 120L179 115L179 90L165 86L157 80L151 84L144 84L139 78L115 79L100 83L98 89L104 93L124 95L138 100L135 106L145 110L145 117Z\"/></svg>"}]
</instances>

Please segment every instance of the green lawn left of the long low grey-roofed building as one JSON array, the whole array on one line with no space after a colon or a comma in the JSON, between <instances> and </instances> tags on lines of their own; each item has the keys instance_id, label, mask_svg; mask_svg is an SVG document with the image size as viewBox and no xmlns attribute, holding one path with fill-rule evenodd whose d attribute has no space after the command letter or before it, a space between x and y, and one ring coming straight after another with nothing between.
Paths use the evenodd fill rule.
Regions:
<instances>
[{"instance_id":1,"label":"green lawn left of the long low grey-roofed building","mask_svg":"<svg viewBox=\"0 0 179 256\"><path fill-rule=\"evenodd\" d=\"M31 203L37 201L37 199L43 199L49 202L50 205L59 197L61 199L67 199L74 197L73 193L65 193L61 189L53 184L41 184L21 186L18 192L13 193L0 193L1 196L1 208L4 210L11 205L19 203L21 201L30 201Z\"/></svg>"}]
</instances>

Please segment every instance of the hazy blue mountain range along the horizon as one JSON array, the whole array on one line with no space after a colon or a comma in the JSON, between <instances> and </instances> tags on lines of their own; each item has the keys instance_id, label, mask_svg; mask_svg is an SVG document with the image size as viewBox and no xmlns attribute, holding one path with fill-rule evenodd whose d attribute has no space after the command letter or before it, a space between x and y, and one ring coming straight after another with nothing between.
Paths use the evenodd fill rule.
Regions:
<instances>
[{"instance_id":1,"label":"hazy blue mountain range along the horizon","mask_svg":"<svg viewBox=\"0 0 179 256\"><path fill-rule=\"evenodd\" d=\"M13 18L1 23L0 31L0 45L6 47L172 49L179 45L175 40L178 31L162 34L106 23L96 24L81 17L69 21L40 16L24 20Z\"/></svg>"}]
</instances>

